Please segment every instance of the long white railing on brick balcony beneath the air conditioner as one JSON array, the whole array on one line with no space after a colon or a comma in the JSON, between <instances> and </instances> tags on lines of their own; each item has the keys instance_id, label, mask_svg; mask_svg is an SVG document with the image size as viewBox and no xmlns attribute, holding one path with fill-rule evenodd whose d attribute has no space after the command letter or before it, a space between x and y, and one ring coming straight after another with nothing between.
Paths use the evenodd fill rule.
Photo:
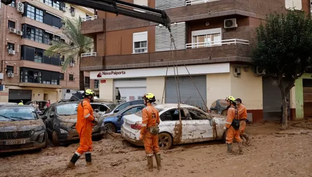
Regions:
<instances>
[{"instance_id":1,"label":"long white railing on brick balcony beneath the air conditioner","mask_svg":"<svg viewBox=\"0 0 312 177\"><path fill-rule=\"evenodd\" d=\"M242 39L227 39L221 41L209 41L209 42L201 42L201 43L190 43L186 44L185 48L202 48L202 47L213 47L213 46L221 46L223 44L245 44L249 45L249 41Z\"/></svg>"}]
</instances>

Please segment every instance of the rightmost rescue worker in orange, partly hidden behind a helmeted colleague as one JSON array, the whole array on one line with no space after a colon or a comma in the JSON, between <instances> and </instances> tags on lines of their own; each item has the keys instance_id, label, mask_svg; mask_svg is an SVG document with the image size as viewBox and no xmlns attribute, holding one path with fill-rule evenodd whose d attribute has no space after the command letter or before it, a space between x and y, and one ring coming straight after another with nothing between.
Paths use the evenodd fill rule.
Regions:
<instances>
[{"instance_id":1,"label":"rightmost rescue worker in orange, partly hidden behind a helmeted colleague","mask_svg":"<svg viewBox=\"0 0 312 177\"><path fill-rule=\"evenodd\" d=\"M246 106L242 103L242 99L236 99L236 106L239 109L239 118L240 118L240 136L243 140L243 137L246 139L246 144L250 143L250 137L245 133L246 129L246 120L247 120L247 109Z\"/></svg>"}]
</instances>

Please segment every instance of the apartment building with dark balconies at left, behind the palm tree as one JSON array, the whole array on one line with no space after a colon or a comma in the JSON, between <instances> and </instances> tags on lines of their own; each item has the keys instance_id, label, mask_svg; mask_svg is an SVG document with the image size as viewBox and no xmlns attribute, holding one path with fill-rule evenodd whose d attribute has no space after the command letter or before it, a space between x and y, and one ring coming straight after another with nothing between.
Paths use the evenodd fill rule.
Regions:
<instances>
[{"instance_id":1,"label":"apartment building with dark balconies at left, behind the palm tree","mask_svg":"<svg viewBox=\"0 0 312 177\"><path fill-rule=\"evenodd\" d=\"M1 3L0 3L1 4ZM70 43L61 34L61 18L86 18L94 10L51 0L22 0L0 7L1 102L69 99L79 90L77 61L62 71L64 56L45 57L53 40ZM85 85L94 80L85 72Z\"/></svg>"}]
</instances>

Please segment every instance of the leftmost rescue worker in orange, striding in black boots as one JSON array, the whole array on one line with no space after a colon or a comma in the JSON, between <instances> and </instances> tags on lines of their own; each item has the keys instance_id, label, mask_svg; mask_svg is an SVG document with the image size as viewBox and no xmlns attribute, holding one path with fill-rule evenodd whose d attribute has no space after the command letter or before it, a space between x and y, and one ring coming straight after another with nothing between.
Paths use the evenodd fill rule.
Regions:
<instances>
[{"instance_id":1,"label":"leftmost rescue worker in orange, striding in black boots","mask_svg":"<svg viewBox=\"0 0 312 177\"><path fill-rule=\"evenodd\" d=\"M85 97L82 102L79 103L77 107L77 123L76 130L80 138L80 146L77 148L73 156L71 157L68 168L75 168L76 161L85 153L87 166L92 165L91 151L92 147L92 129L95 124L99 121L93 116L93 108L91 107L91 102L94 101L96 96L94 91L91 89L85 90L83 93Z\"/></svg>"}]
</instances>

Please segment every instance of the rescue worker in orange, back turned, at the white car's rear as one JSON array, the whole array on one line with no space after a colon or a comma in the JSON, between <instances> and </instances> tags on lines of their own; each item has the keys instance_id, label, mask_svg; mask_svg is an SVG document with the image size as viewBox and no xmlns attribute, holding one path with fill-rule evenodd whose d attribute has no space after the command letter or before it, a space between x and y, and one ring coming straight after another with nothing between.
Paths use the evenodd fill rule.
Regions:
<instances>
[{"instance_id":1,"label":"rescue worker in orange, back turned, at the white car's rear","mask_svg":"<svg viewBox=\"0 0 312 177\"><path fill-rule=\"evenodd\" d=\"M140 140L144 142L144 148L147 158L148 171L153 170L153 154L155 155L157 168L162 168L161 164L161 150L158 145L159 133L159 112L154 108L151 103L155 102L155 96L152 93L143 95L145 108L142 110L142 123L140 131Z\"/></svg>"}]
</instances>

